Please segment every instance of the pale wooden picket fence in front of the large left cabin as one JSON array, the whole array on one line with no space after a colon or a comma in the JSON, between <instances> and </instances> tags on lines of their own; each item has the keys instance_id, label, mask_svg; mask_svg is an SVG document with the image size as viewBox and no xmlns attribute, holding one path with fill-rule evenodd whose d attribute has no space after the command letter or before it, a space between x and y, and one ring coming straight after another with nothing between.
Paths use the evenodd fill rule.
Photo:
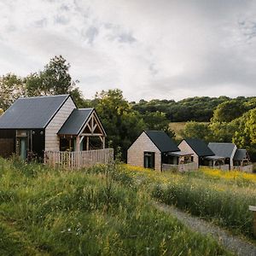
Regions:
<instances>
[{"instance_id":1,"label":"pale wooden picket fence in front of the large left cabin","mask_svg":"<svg viewBox=\"0 0 256 256\"><path fill-rule=\"evenodd\" d=\"M113 163L113 148L89 151L45 151L44 163L52 167L80 169Z\"/></svg>"}]
</instances>

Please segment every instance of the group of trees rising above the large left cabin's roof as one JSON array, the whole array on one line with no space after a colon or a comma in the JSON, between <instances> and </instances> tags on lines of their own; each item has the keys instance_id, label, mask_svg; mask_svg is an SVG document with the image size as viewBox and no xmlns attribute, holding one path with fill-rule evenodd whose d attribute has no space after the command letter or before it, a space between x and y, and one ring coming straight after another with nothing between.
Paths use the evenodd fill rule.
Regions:
<instances>
[{"instance_id":1,"label":"group of trees rising above the large left cabin's roof","mask_svg":"<svg viewBox=\"0 0 256 256\"><path fill-rule=\"evenodd\" d=\"M78 107L84 105L81 91L68 73L70 64L60 55L55 56L39 73L20 78L8 73L0 78L0 108L5 111L20 96L71 94Z\"/></svg>"}]
</instances>

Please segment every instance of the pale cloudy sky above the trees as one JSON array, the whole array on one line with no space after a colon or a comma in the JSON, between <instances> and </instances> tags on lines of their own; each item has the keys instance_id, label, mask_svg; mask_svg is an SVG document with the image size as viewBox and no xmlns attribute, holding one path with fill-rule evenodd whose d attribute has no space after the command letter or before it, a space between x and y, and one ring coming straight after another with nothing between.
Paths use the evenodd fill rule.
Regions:
<instances>
[{"instance_id":1,"label":"pale cloudy sky above the trees","mask_svg":"<svg viewBox=\"0 0 256 256\"><path fill-rule=\"evenodd\" d=\"M0 0L0 75L55 55L85 98L256 96L256 1Z\"/></svg>"}]
</instances>

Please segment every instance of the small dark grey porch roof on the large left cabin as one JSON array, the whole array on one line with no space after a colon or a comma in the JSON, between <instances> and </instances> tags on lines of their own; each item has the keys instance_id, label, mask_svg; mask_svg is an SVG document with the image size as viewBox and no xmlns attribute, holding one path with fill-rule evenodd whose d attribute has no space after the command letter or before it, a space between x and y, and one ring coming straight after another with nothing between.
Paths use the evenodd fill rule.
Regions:
<instances>
[{"instance_id":1,"label":"small dark grey porch roof on the large left cabin","mask_svg":"<svg viewBox=\"0 0 256 256\"><path fill-rule=\"evenodd\" d=\"M59 135L78 135L94 108L76 108L62 125Z\"/></svg>"}]
</instances>

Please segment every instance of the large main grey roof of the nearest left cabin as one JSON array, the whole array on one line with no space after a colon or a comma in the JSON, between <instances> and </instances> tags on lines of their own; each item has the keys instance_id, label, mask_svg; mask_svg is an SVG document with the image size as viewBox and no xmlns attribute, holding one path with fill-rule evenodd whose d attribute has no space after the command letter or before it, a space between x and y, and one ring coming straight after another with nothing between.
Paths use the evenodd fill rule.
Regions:
<instances>
[{"instance_id":1,"label":"large main grey roof of the nearest left cabin","mask_svg":"<svg viewBox=\"0 0 256 256\"><path fill-rule=\"evenodd\" d=\"M0 129L45 128L68 97L21 97L0 117Z\"/></svg>"}]
</instances>

